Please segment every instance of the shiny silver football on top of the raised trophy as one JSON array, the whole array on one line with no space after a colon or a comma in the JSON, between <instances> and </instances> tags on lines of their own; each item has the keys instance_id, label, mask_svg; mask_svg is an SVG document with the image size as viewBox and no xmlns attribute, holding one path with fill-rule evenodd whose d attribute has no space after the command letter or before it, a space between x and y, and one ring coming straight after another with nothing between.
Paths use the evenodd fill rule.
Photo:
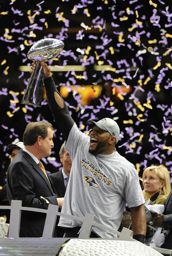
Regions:
<instances>
[{"instance_id":1,"label":"shiny silver football on top of the raised trophy","mask_svg":"<svg viewBox=\"0 0 172 256\"><path fill-rule=\"evenodd\" d=\"M30 60L49 61L54 59L62 51L64 43L54 38L44 38L30 48L27 57Z\"/></svg>"}]
</instances>

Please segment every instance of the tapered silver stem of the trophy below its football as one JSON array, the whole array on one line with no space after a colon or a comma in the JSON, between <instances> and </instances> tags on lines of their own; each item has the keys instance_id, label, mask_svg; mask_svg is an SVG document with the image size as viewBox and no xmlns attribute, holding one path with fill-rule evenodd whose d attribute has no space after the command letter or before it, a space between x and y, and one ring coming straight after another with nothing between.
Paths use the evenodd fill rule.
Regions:
<instances>
[{"instance_id":1,"label":"tapered silver stem of the trophy below its football","mask_svg":"<svg viewBox=\"0 0 172 256\"><path fill-rule=\"evenodd\" d=\"M41 62L37 60L21 103L41 107L43 84L44 70L41 67Z\"/></svg>"}]
</instances>

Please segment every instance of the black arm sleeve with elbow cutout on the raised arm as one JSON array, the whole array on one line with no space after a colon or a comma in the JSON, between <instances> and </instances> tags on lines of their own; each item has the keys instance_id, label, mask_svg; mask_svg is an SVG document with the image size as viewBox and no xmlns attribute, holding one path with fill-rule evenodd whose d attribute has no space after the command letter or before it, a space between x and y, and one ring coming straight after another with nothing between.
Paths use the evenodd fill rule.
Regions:
<instances>
[{"instance_id":1,"label":"black arm sleeve with elbow cutout on the raised arm","mask_svg":"<svg viewBox=\"0 0 172 256\"><path fill-rule=\"evenodd\" d=\"M52 112L53 118L56 122L56 124L59 126L61 133L63 134L63 137L65 140L67 140L70 130L74 124L74 120L69 114L68 107L66 106L66 103L64 102L63 98L59 94L55 83L53 81L52 76L49 78L44 79L44 85L45 85L45 90L46 90L46 97L48 101L49 108ZM54 92L57 92L62 101L64 107L61 108L58 103L55 100L54 97Z\"/></svg>"}]
</instances>

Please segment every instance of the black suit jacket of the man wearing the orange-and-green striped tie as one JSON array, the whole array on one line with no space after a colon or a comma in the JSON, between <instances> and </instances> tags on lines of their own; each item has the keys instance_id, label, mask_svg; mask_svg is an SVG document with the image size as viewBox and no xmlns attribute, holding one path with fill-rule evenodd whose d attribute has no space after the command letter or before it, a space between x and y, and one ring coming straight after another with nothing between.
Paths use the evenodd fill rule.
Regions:
<instances>
[{"instance_id":1,"label":"black suit jacket of the man wearing the orange-and-green striped tie","mask_svg":"<svg viewBox=\"0 0 172 256\"><path fill-rule=\"evenodd\" d=\"M49 184L38 164L22 149L9 165L6 185L10 204L11 200L22 200L22 206L41 209L48 209L49 204L58 205L53 184ZM44 213L23 211L20 237L42 237L45 218Z\"/></svg>"}]
</instances>

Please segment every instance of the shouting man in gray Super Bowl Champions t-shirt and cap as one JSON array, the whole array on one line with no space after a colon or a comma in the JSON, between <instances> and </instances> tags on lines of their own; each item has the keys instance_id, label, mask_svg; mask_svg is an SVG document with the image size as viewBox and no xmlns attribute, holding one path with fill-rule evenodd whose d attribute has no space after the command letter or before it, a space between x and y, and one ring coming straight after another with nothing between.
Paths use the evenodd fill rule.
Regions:
<instances>
[{"instance_id":1,"label":"shouting man in gray Super Bowl Champions t-shirt and cap","mask_svg":"<svg viewBox=\"0 0 172 256\"><path fill-rule=\"evenodd\" d=\"M32 69L34 66L32 63ZM81 218L85 213L90 213L96 216L96 222L117 230L127 202L134 238L144 242L145 200L133 164L115 150L120 135L117 123L110 118L99 122L89 120L87 125L93 129L90 137L79 131L56 89L49 67L45 62L41 62L41 66L45 74L48 105L67 141L65 147L72 160L62 213ZM65 228L65 237L78 237L79 221L61 216L59 225ZM90 237L109 238L114 237L114 234L94 227Z\"/></svg>"}]
</instances>

